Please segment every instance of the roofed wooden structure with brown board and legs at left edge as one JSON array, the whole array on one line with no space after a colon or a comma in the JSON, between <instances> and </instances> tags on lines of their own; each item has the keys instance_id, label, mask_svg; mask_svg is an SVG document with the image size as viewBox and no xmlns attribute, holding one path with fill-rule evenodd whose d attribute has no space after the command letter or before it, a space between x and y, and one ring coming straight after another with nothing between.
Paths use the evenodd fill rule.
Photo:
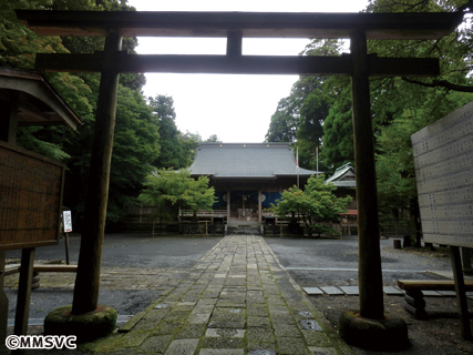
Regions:
<instances>
[{"instance_id":1,"label":"roofed wooden structure with brown board and legs at left edge","mask_svg":"<svg viewBox=\"0 0 473 355\"><path fill-rule=\"evenodd\" d=\"M16 146L17 128L79 116L39 73L0 69L0 339L7 335L6 250L22 248L14 334L25 334L34 248L59 243L65 166Z\"/></svg>"}]
</instances>

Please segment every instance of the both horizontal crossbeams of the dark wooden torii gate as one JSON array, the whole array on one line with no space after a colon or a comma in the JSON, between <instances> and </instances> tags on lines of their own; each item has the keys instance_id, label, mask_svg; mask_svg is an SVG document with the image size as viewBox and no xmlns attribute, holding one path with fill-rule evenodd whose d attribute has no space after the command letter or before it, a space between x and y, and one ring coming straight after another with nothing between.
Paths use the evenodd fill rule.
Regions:
<instances>
[{"instance_id":1,"label":"both horizontal crossbeams of the dark wooden torii gate","mask_svg":"<svg viewBox=\"0 0 473 355\"><path fill-rule=\"evenodd\" d=\"M462 12L436 13L276 13L134 12L17 10L18 18L44 36L223 37L227 55L153 55L116 53L119 72L332 74L352 73L349 57L241 55L243 38L438 39L451 33ZM100 72L102 53L38 54L43 71ZM369 75L436 75L439 61L426 58L369 58Z\"/></svg>"}]
</instances>

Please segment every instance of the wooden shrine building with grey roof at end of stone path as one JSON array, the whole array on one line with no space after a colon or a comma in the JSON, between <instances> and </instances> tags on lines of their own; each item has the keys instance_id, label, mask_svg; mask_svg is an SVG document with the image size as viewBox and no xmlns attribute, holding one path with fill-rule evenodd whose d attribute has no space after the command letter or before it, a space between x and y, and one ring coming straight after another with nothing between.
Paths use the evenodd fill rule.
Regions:
<instances>
[{"instance_id":1,"label":"wooden shrine building with grey roof at end of stone path","mask_svg":"<svg viewBox=\"0 0 473 355\"><path fill-rule=\"evenodd\" d=\"M214 214L226 217L228 224L263 222L269 215L265 209L284 190L302 187L319 174L297 168L289 143L202 143L188 170L193 178L209 178L218 199Z\"/></svg>"}]
</instances>

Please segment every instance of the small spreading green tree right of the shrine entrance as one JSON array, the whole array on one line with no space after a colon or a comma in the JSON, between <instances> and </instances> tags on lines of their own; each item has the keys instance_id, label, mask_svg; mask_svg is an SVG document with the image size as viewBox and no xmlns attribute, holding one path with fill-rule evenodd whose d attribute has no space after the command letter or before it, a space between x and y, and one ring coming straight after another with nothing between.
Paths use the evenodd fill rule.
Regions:
<instances>
[{"instance_id":1,"label":"small spreading green tree right of the shrine entrance","mask_svg":"<svg viewBox=\"0 0 473 355\"><path fill-rule=\"evenodd\" d=\"M351 197L337 197L333 194L337 187L332 183L326 184L325 180L322 174L312 175L304 191L296 186L285 190L277 205L271 206L271 211L279 219L286 219L288 215L291 215L291 219L300 217L307 227L319 235L329 232L318 223L339 219L340 213L347 212Z\"/></svg>"}]
</instances>

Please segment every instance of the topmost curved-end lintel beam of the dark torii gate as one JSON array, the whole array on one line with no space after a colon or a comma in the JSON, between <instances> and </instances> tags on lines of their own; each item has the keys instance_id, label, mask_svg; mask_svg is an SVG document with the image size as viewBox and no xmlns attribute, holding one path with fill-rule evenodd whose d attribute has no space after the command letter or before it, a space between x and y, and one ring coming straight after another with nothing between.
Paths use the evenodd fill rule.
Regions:
<instances>
[{"instance_id":1,"label":"topmost curved-end lintel beam of the dark torii gate","mask_svg":"<svg viewBox=\"0 0 473 355\"><path fill-rule=\"evenodd\" d=\"M246 38L438 39L451 33L463 12L306 13L186 11L17 10L17 17L43 36L220 37L239 31Z\"/></svg>"}]
</instances>

